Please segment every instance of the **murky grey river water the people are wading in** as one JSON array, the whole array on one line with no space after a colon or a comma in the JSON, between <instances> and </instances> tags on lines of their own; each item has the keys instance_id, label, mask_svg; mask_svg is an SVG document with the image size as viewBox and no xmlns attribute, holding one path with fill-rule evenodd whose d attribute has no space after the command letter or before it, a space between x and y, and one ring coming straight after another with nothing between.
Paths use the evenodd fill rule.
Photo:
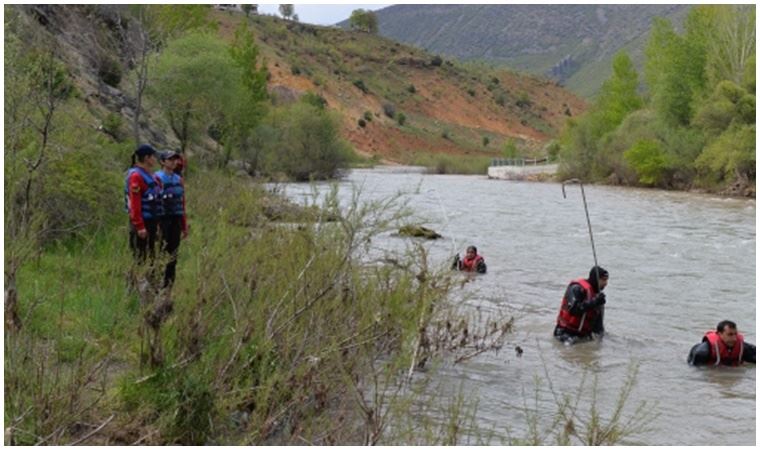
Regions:
<instances>
[{"instance_id":1,"label":"murky grey river water the people are wading in","mask_svg":"<svg viewBox=\"0 0 760 450\"><path fill-rule=\"evenodd\" d=\"M476 245L488 274L461 288L485 314L507 311L515 332L499 353L485 353L436 372L443 385L477 399L477 423L505 436L526 434L524 402L549 423L557 394L573 395L584 373L598 376L598 402L608 416L629 372L637 383L624 417L642 402L657 414L649 429L624 443L754 445L755 367L708 370L686 364L692 345L718 321L737 322L756 343L755 201L659 190L585 186L599 264L610 272L601 341L572 347L551 337L568 281L586 276L593 255L580 189L560 184L426 175L415 168L357 169L340 182L349 199L405 193L415 215L444 235L431 241L443 264ZM326 184L317 189L326 189ZM303 184L285 186L301 198ZM378 245L401 247L387 234ZM524 353L512 350L519 345ZM548 377L548 380L547 380ZM446 390L442 390L445 392ZM586 399L588 400L588 399ZM583 408L580 408L583 411ZM551 444L551 440L547 444Z\"/></svg>"}]
</instances>

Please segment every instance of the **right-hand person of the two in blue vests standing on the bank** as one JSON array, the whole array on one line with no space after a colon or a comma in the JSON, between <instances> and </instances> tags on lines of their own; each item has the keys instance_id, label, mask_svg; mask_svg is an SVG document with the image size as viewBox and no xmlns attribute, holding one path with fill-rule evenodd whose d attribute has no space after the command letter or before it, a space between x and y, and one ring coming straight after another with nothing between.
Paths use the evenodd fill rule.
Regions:
<instances>
[{"instance_id":1,"label":"right-hand person of the two in blue vests standing on the bank","mask_svg":"<svg viewBox=\"0 0 760 450\"><path fill-rule=\"evenodd\" d=\"M185 185L182 177L175 173L179 161L178 153L171 150L164 151L161 153L161 170L156 172L156 177L163 187L161 195L163 214L160 221L162 249L169 254L169 262L164 272L164 287L174 284L180 239L187 238Z\"/></svg>"}]
</instances>

